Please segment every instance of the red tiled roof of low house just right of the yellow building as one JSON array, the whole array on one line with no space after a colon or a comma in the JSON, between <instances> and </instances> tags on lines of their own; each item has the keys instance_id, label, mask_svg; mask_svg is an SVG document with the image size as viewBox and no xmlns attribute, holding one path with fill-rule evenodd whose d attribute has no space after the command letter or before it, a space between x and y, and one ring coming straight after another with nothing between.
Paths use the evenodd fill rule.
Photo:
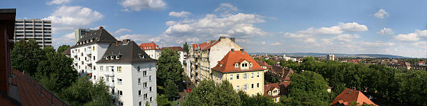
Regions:
<instances>
[{"instance_id":1,"label":"red tiled roof of low house just right of the yellow building","mask_svg":"<svg viewBox=\"0 0 427 106\"><path fill-rule=\"evenodd\" d=\"M264 85L264 96L269 96L269 91L273 92L275 88L280 90L280 93L277 96L269 96L270 98L276 98L287 94L287 87L290 85L290 81L285 82L276 82Z\"/></svg>"}]
</instances>

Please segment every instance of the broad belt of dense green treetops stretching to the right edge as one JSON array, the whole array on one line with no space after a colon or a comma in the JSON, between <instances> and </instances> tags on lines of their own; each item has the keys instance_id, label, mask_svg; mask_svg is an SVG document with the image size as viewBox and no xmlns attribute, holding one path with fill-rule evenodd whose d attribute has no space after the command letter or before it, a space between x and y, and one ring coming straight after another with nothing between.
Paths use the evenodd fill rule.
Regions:
<instances>
[{"instance_id":1,"label":"broad belt of dense green treetops stretching to the right edge","mask_svg":"<svg viewBox=\"0 0 427 106\"><path fill-rule=\"evenodd\" d=\"M283 64L298 73L313 71L320 73L335 96L345 87L377 98L396 100L408 105L427 105L427 72L399 71L381 64L354 64L338 61L317 61L314 58L304 58L301 64ZM331 97L335 97L331 96Z\"/></svg>"}]
</instances>

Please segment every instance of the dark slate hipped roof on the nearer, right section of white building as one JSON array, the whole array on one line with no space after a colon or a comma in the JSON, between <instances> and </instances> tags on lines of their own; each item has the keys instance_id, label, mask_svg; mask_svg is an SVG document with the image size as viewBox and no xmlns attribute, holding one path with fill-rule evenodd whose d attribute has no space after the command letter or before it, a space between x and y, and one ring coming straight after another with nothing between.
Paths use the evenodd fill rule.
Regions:
<instances>
[{"instance_id":1,"label":"dark slate hipped roof on the nearer, right section of white building","mask_svg":"<svg viewBox=\"0 0 427 106\"><path fill-rule=\"evenodd\" d=\"M115 56L119 55L119 59ZM114 56L114 59L111 60L110 56ZM141 58L141 57L144 58ZM105 59L108 57L108 60ZM155 62L156 60L152 59L142 51L140 46L138 46L133 41L123 40L123 42L117 42L110 44L107 51L105 51L101 60L96 63L133 63L133 62Z\"/></svg>"}]
</instances>

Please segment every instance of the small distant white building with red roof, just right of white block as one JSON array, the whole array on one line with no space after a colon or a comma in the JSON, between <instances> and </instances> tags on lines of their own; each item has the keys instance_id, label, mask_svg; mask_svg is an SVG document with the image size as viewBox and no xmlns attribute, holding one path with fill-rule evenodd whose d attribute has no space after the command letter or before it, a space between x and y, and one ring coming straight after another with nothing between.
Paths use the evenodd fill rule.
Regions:
<instances>
[{"instance_id":1,"label":"small distant white building with red roof, just right of white block","mask_svg":"<svg viewBox=\"0 0 427 106\"><path fill-rule=\"evenodd\" d=\"M158 45L154 42L150 43L142 43L140 44L140 48L147 53L147 55L150 56L150 58L153 58L155 60L158 60L160 58L160 48Z\"/></svg>"}]
</instances>

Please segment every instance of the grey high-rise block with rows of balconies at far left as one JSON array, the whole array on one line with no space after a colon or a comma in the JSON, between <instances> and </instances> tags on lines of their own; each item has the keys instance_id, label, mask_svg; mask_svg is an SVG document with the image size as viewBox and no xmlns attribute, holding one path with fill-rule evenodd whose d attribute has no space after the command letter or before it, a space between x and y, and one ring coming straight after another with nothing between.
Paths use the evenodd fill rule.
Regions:
<instances>
[{"instance_id":1,"label":"grey high-rise block with rows of balconies at far left","mask_svg":"<svg viewBox=\"0 0 427 106\"><path fill-rule=\"evenodd\" d=\"M41 48L52 46L52 22L42 19L16 19L15 42L35 39Z\"/></svg>"}]
</instances>

